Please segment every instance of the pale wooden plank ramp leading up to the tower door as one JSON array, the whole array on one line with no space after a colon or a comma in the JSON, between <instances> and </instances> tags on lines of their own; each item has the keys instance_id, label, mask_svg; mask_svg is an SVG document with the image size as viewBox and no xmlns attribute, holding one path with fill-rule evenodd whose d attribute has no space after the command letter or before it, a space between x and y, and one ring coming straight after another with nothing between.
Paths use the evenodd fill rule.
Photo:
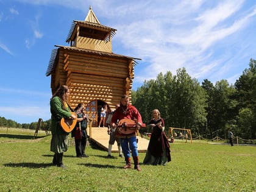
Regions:
<instances>
[{"instance_id":1,"label":"pale wooden plank ramp leading up to the tower door","mask_svg":"<svg viewBox=\"0 0 256 192\"><path fill-rule=\"evenodd\" d=\"M89 127L88 127L89 128ZM96 143L98 146L103 148L105 151L108 151L108 141L109 141L109 135L107 133L106 127L91 127L91 130L89 128L88 135L90 136L90 140ZM148 149L149 140L146 138L141 138L140 136L137 136L138 139L138 152L146 152ZM118 152L118 147L115 143L112 146L112 152Z\"/></svg>"}]
</instances>

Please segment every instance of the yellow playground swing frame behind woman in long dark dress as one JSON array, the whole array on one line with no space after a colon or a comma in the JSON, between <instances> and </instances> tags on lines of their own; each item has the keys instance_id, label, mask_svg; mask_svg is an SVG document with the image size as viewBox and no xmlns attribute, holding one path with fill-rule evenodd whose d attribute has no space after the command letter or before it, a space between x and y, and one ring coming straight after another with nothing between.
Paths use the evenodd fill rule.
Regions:
<instances>
[{"instance_id":1,"label":"yellow playground swing frame behind woman in long dark dress","mask_svg":"<svg viewBox=\"0 0 256 192\"><path fill-rule=\"evenodd\" d=\"M177 134L179 133L179 134ZM169 138L171 138L171 143L174 142L174 139L182 139L186 140L186 143L188 140L192 143L192 135L190 129L182 129L182 128L176 128L176 127L169 127Z\"/></svg>"}]
</instances>

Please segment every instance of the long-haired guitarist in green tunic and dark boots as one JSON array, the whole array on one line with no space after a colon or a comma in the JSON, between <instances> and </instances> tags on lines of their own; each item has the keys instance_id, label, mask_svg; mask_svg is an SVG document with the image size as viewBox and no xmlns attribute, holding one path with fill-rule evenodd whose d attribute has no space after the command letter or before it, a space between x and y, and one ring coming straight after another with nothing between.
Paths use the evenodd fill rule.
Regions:
<instances>
[{"instance_id":1,"label":"long-haired guitarist in green tunic and dark boots","mask_svg":"<svg viewBox=\"0 0 256 192\"><path fill-rule=\"evenodd\" d=\"M63 165L63 152L68 150L69 146L69 133L65 132L60 126L60 119L72 118L76 119L76 115L71 114L67 100L69 96L69 88L66 85L62 85L52 95L51 106L51 151L54 152L54 158L52 160L53 165L57 165L60 168L66 168Z\"/></svg>"}]
</instances>

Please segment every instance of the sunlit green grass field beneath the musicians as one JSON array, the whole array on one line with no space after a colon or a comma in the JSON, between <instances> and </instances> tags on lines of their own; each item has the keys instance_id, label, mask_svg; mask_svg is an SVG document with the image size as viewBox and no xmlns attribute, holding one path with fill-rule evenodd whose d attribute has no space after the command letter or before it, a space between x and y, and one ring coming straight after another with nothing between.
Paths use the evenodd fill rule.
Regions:
<instances>
[{"instance_id":1,"label":"sunlit green grass field beneath the musicians","mask_svg":"<svg viewBox=\"0 0 256 192\"><path fill-rule=\"evenodd\" d=\"M51 166L51 135L0 128L0 191L256 191L256 147L182 141L171 144L166 166L123 169L124 158L93 143L89 158L76 158L74 141L64 153L67 169ZM140 152L140 161L145 153Z\"/></svg>"}]
</instances>

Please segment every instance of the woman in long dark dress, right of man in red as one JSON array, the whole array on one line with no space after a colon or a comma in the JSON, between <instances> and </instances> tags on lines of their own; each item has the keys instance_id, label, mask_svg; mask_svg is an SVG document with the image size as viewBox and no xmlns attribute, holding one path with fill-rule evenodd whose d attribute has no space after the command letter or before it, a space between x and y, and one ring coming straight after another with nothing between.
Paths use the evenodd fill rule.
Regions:
<instances>
[{"instance_id":1,"label":"woman in long dark dress, right of man in red","mask_svg":"<svg viewBox=\"0 0 256 192\"><path fill-rule=\"evenodd\" d=\"M166 165L171 161L171 151L168 138L165 135L165 121L160 117L158 109L152 111L154 118L149 122L152 127L148 150L144 165Z\"/></svg>"}]
</instances>

